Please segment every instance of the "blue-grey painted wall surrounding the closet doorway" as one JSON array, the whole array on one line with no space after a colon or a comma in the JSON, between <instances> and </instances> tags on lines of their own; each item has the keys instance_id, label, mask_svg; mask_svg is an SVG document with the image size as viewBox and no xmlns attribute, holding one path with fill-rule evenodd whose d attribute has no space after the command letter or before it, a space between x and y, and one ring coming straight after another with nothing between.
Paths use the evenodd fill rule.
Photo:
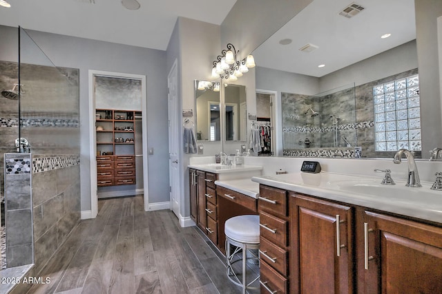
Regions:
<instances>
[{"instance_id":1,"label":"blue-grey painted wall surrounding the closet doorway","mask_svg":"<svg viewBox=\"0 0 442 294\"><path fill-rule=\"evenodd\" d=\"M17 29L0 26L0 31L2 38L14 40L11 33ZM88 70L146 75L147 142L154 149L148 157L149 202L169 201L166 52L46 32L29 34L55 65L80 70L81 211L90 210ZM1 59L17 61L14 47L2 42Z\"/></svg>"}]
</instances>

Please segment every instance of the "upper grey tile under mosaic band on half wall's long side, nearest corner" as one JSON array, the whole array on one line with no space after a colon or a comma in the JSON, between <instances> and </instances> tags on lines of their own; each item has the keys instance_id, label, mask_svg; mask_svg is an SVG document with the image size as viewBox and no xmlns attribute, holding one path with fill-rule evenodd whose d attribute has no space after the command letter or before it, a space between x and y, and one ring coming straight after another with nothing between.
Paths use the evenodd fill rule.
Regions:
<instances>
[{"instance_id":1,"label":"upper grey tile under mosaic band on half wall's long side, nearest corner","mask_svg":"<svg viewBox=\"0 0 442 294\"><path fill-rule=\"evenodd\" d=\"M57 171L32 174L32 204L34 207L57 194Z\"/></svg>"}]
</instances>

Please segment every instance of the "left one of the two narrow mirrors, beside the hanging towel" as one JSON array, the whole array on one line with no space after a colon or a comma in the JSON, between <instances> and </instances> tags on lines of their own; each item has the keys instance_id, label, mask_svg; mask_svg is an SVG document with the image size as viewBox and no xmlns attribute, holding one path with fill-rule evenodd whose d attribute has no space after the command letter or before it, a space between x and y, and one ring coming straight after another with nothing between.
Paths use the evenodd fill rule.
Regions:
<instances>
[{"instance_id":1,"label":"left one of the two narrow mirrors, beside the hanging towel","mask_svg":"<svg viewBox=\"0 0 442 294\"><path fill-rule=\"evenodd\" d=\"M220 141L220 83L195 81L196 140Z\"/></svg>"}]
</instances>

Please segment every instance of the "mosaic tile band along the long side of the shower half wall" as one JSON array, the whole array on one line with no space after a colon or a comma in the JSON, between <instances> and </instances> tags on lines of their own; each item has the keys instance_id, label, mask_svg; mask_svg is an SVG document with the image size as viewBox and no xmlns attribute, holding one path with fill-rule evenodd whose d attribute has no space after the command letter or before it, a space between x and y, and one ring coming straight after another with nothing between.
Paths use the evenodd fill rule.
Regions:
<instances>
[{"instance_id":1,"label":"mosaic tile band along the long side of the shower half wall","mask_svg":"<svg viewBox=\"0 0 442 294\"><path fill-rule=\"evenodd\" d=\"M52 169L63 169L80 164L80 156L78 154L66 155L35 155L32 156L32 174L50 171Z\"/></svg>"}]
</instances>

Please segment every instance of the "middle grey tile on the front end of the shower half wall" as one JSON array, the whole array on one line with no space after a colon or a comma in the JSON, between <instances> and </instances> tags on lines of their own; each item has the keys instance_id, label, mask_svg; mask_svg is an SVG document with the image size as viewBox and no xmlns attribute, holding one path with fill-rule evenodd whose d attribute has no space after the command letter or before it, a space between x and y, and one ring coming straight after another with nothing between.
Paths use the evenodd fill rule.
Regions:
<instances>
[{"instance_id":1,"label":"middle grey tile on the front end of the shower half wall","mask_svg":"<svg viewBox=\"0 0 442 294\"><path fill-rule=\"evenodd\" d=\"M6 246L32 242L32 216L30 209L6 211ZM6 255L8 258L8 255Z\"/></svg>"}]
</instances>

